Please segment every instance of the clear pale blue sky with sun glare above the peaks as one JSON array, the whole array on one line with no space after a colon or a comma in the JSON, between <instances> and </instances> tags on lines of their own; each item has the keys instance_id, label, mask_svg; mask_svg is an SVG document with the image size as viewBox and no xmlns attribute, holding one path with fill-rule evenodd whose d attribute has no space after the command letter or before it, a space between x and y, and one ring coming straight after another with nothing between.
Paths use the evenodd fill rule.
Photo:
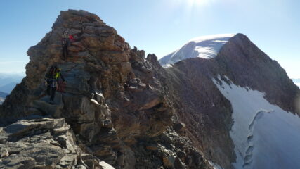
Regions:
<instances>
[{"instance_id":1,"label":"clear pale blue sky with sun glare above the peaks","mask_svg":"<svg viewBox=\"0 0 300 169\"><path fill-rule=\"evenodd\" d=\"M126 42L162 57L193 37L243 33L300 78L300 1L296 0L3 0L0 73L25 71L26 54L60 11L96 13Z\"/></svg>"}]
</instances>

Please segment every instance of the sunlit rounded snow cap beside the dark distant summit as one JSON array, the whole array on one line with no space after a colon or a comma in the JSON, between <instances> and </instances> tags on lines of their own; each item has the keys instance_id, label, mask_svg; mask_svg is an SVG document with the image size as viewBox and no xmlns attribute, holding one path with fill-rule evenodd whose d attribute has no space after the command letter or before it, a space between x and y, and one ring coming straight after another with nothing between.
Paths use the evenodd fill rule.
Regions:
<instances>
[{"instance_id":1,"label":"sunlit rounded snow cap beside the dark distant summit","mask_svg":"<svg viewBox=\"0 0 300 169\"><path fill-rule=\"evenodd\" d=\"M235 34L220 34L197 37L183 45L181 49L162 57L159 60L161 65L173 64L186 58L214 58L220 49Z\"/></svg>"}]
</instances>

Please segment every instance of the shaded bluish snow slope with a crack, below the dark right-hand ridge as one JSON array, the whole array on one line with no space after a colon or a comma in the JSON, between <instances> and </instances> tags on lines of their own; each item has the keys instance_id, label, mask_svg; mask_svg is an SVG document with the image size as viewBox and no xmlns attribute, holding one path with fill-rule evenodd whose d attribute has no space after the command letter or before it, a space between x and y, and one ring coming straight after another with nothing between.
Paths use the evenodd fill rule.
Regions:
<instances>
[{"instance_id":1,"label":"shaded bluish snow slope with a crack, below the dark right-hand ridge","mask_svg":"<svg viewBox=\"0 0 300 169\"><path fill-rule=\"evenodd\" d=\"M299 116L270 104L261 92L214 82L233 106L235 168L299 169Z\"/></svg>"}]
</instances>

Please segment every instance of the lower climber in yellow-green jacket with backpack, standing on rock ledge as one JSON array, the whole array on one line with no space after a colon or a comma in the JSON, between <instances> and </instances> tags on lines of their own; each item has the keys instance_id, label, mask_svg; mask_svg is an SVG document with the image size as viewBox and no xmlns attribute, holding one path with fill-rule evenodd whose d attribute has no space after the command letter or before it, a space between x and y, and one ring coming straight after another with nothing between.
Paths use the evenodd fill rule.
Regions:
<instances>
[{"instance_id":1,"label":"lower climber in yellow-green jacket with backpack, standing on rock ledge","mask_svg":"<svg viewBox=\"0 0 300 169\"><path fill-rule=\"evenodd\" d=\"M65 84L65 78L60 72L60 68L57 65L51 66L48 73L46 73L46 84L47 84L47 94L50 96L50 104L54 104L54 96L56 94L56 89L58 87L58 79L61 78Z\"/></svg>"}]
</instances>

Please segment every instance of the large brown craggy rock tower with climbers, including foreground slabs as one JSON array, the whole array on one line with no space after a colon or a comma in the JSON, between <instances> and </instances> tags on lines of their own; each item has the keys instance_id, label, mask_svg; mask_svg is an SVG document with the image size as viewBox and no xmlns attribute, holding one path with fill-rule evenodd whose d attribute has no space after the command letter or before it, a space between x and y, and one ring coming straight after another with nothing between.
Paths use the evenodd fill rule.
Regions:
<instances>
[{"instance_id":1,"label":"large brown craggy rock tower with climbers, including foreground slabs","mask_svg":"<svg viewBox=\"0 0 300 169\"><path fill-rule=\"evenodd\" d=\"M77 40L62 60L66 29ZM170 106L180 101L159 81L156 56L131 49L98 16L62 11L27 54L26 77L1 106L0 168L211 168L181 136ZM67 87L51 105L43 82L53 64Z\"/></svg>"}]
</instances>

